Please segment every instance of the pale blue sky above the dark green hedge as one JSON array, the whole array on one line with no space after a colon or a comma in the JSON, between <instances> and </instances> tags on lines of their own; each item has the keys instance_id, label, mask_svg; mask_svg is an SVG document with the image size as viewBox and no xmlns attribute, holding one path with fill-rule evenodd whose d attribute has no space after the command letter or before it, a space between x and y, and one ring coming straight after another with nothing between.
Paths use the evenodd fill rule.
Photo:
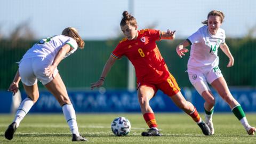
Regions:
<instances>
[{"instance_id":1,"label":"pale blue sky above the dark green hedge","mask_svg":"<svg viewBox=\"0 0 256 144\"><path fill-rule=\"evenodd\" d=\"M0 34L9 37L27 22L38 39L61 34L70 26L84 39L110 39L122 34L119 22L127 10L139 29L171 29L177 38L187 38L203 26L211 10L220 10L225 14L221 28L226 36L243 37L256 27L255 6L254 0L8 0L1 2Z\"/></svg>"}]
</instances>

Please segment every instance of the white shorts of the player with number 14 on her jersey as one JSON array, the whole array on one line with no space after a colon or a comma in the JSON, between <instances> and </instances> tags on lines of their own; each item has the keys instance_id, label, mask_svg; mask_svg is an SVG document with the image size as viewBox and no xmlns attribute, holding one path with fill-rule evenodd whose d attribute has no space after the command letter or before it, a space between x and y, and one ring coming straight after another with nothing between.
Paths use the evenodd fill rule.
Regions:
<instances>
[{"instance_id":1,"label":"white shorts of the player with number 14 on her jersey","mask_svg":"<svg viewBox=\"0 0 256 144\"><path fill-rule=\"evenodd\" d=\"M223 77L223 75L219 67L216 66L205 73L200 70L189 70L188 77L197 92L202 95L203 91L210 91L207 82L211 84L215 79Z\"/></svg>"}]
</instances>

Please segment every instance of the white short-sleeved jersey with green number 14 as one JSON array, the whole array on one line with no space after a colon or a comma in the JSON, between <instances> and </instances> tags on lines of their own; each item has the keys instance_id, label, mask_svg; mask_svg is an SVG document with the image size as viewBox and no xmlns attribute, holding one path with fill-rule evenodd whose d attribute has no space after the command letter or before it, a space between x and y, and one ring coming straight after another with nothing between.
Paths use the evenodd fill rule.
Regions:
<instances>
[{"instance_id":1,"label":"white short-sleeved jersey with green number 14","mask_svg":"<svg viewBox=\"0 0 256 144\"><path fill-rule=\"evenodd\" d=\"M191 44L188 60L188 72L193 69L209 71L219 65L218 47L225 43L225 31L218 29L217 34L212 35L207 26L199 28L196 33L188 37Z\"/></svg>"}]
</instances>

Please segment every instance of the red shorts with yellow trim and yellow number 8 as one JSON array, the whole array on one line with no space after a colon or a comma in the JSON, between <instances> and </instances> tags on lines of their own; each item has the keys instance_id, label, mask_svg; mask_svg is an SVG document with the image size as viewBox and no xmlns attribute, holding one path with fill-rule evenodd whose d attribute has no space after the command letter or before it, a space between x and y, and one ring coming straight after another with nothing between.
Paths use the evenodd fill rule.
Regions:
<instances>
[{"instance_id":1,"label":"red shorts with yellow trim and yellow number 8","mask_svg":"<svg viewBox=\"0 0 256 144\"><path fill-rule=\"evenodd\" d=\"M164 94L168 95L169 97L172 97L173 95L180 92L180 87L178 86L175 78L172 75L163 80L163 82L157 84L149 82L138 82L137 90L141 85L151 87L155 91L155 93L157 92L157 90L161 90L164 92Z\"/></svg>"}]
</instances>

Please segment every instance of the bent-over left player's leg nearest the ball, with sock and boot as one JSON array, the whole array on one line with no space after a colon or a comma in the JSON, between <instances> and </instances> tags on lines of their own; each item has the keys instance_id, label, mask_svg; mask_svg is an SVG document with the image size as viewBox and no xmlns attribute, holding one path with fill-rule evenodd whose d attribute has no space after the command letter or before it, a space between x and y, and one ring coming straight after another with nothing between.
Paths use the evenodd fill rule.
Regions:
<instances>
[{"instance_id":1,"label":"bent-over left player's leg nearest the ball, with sock and boot","mask_svg":"<svg viewBox=\"0 0 256 144\"><path fill-rule=\"evenodd\" d=\"M68 93L66 90L66 86L63 83L59 73L55 75L54 79L52 79L51 82L45 84L44 86L46 87L47 90L49 90L54 95L54 97L58 100L58 102L62 106L63 114L69 125L70 131L73 134L72 141L87 141L78 132L75 109L72 103L70 102L70 99L68 97Z\"/></svg>"}]
</instances>

